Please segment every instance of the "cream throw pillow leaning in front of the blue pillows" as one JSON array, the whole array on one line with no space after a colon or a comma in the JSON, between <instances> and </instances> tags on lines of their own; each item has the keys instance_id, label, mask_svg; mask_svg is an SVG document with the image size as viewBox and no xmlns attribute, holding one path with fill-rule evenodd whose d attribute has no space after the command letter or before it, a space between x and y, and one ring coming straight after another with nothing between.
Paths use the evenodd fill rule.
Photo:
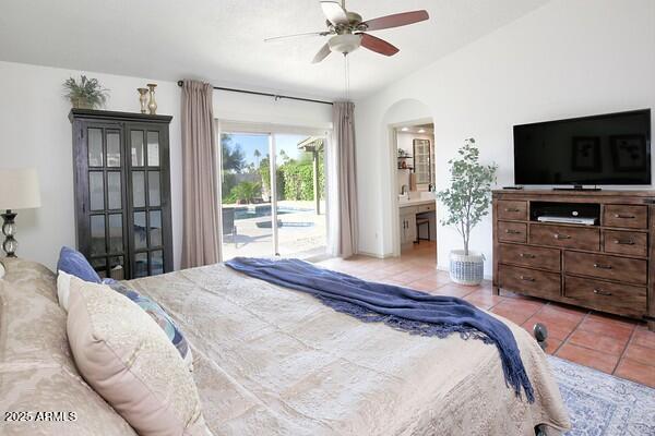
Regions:
<instances>
[{"instance_id":1,"label":"cream throw pillow leaning in front of the blue pillows","mask_svg":"<svg viewBox=\"0 0 655 436\"><path fill-rule=\"evenodd\" d=\"M88 384L140 435L211 434L193 376L157 324L105 284L71 279L67 334Z\"/></svg>"}]
</instances>

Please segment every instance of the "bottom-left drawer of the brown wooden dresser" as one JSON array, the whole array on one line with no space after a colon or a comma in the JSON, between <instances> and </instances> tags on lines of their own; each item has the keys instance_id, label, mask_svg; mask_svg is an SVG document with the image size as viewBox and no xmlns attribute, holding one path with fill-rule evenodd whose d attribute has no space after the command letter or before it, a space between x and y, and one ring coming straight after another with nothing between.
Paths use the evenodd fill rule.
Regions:
<instances>
[{"instance_id":1,"label":"bottom-left drawer of the brown wooden dresser","mask_svg":"<svg viewBox=\"0 0 655 436\"><path fill-rule=\"evenodd\" d=\"M517 266L499 265L498 286L513 292L540 298L560 296L560 275Z\"/></svg>"}]
</instances>

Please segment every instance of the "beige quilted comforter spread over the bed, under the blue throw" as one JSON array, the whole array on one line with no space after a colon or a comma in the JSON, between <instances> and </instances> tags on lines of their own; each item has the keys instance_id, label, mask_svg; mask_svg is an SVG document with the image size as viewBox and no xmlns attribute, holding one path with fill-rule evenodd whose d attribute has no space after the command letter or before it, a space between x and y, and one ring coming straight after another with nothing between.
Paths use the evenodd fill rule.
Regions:
<instances>
[{"instance_id":1,"label":"beige quilted comforter spread over the bed, under the blue throw","mask_svg":"<svg viewBox=\"0 0 655 436\"><path fill-rule=\"evenodd\" d=\"M479 340L412 336L334 312L224 265L133 280L192 344L216 435L534 435L570 427L537 343L508 323L535 388L528 404Z\"/></svg>"}]
</instances>

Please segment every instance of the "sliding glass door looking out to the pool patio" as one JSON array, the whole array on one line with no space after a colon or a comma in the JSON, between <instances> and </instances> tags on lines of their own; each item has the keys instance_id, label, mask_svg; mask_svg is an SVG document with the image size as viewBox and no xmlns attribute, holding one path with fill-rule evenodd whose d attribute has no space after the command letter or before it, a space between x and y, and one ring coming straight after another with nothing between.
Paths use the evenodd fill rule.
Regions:
<instances>
[{"instance_id":1,"label":"sliding glass door looking out to the pool patio","mask_svg":"<svg viewBox=\"0 0 655 436\"><path fill-rule=\"evenodd\" d=\"M222 133L223 261L325 253L324 145L321 136Z\"/></svg>"}]
</instances>

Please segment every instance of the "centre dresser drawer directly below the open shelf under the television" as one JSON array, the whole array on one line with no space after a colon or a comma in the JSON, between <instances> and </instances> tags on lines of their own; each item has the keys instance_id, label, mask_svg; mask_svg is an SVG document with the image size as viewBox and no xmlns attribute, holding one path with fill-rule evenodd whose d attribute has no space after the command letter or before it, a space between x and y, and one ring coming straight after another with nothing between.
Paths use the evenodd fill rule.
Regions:
<instances>
[{"instance_id":1,"label":"centre dresser drawer directly below the open shelf under the television","mask_svg":"<svg viewBox=\"0 0 655 436\"><path fill-rule=\"evenodd\" d=\"M531 225L529 243L579 250L600 250L597 228Z\"/></svg>"}]
</instances>

